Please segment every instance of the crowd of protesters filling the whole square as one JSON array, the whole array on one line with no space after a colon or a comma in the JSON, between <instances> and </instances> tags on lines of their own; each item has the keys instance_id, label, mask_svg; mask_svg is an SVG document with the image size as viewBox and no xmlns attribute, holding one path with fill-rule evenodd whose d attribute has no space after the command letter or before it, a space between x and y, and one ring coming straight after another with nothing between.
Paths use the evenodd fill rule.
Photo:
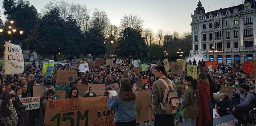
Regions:
<instances>
[{"instance_id":1,"label":"crowd of protesters filling the whole square","mask_svg":"<svg viewBox=\"0 0 256 126\"><path fill-rule=\"evenodd\" d=\"M94 66L88 72L79 72L79 67L77 67L79 65L70 66L70 64L65 64L63 66L55 64L53 74L49 77L42 73L42 66L39 65L39 69L37 69L34 63L33 65L25 65L24 74L2 76L0 72L0 124L4 126L43 125L46 100L55 100L55 91L65 91L65 98L80 98L76 85L88 85L89 83L106 84L106 86L118 83L120 87L119 94L114 98L111 95L109 96L109 107L111 109L116 108L116 125L139 125L136 124L136 114L132 111L134 105L128 104L135 104L136 92L141 90L152 91L152 118L155 119L155 126L165 126L166 121L168 121L168 124L171 121L170 125L174 125L174 120L178 121L177 117L180 117L180 122L183 120L185 126L211 126L213 124L213 109L220 116L233 114L238 120L237 126L245 126L247 123L255 124L256 111L253 110L256 106L255 77L249 77L242 69L222 67L224 69L221 68L221 71L209 72L205 71L205 61L203 59L198 62L198 65L193 60L193 62L186 63L186 66L197 66L198 76L197 79L193 79L187 75L187 70L181 74L173 74L172 71L165 71L162 65L152 69L150 63L148 63L147 71L142 72L141 70L141 72L136 73L134 72L133 63L124 63L117 68L106 65ZM59 69L76 70L76 82L57 83L56 75ZM125 75L124 71L129 70L133 72L128 72ZM164 79L166 82L171 81L174 85L177 98L180 99L177 114L166 115L161 111L159 104L163 100L165 86L159 79ZM2 80L4 80L4 83ZM137 82L142 80L145 83L140 89ZM45 90L45 97L40 97L40 109L25 110L26 106L22 104L21 98L33 97L33 86L37 85L44 86ZM220 101L215 101L213 94L220 91L221 86L234 87L233 96L228 97L222 93ZM109 93L106 92L104 95L109 95ZM94 93L94 87L90 86L89 91L83 97L95 96L97 94ZM120 106L119 102L123 102L123 106ZM123 107L127 110L124 110ZM123 117L120 113L126 113L129 116ZM151 126L148 120L143 123L144 126Z\"/></svg>"}]
</instances>

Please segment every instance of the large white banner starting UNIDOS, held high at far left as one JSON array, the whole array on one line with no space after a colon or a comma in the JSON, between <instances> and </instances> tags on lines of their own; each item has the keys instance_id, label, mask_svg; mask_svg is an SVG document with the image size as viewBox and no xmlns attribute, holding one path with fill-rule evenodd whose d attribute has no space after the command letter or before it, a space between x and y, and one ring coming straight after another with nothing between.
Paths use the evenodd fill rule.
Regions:
<instances>
[{"instance_id":1,"label":"large white banner starting UNIDOS, held high at far left","mask_svg":"<svg viewBox=\"0 0 256 126\"><path fill-rule=\"evenodd\" d=\"M24 71L24 58L19 45L5 42L4 73L22 74Z\"/></svg>"}]
</instances>

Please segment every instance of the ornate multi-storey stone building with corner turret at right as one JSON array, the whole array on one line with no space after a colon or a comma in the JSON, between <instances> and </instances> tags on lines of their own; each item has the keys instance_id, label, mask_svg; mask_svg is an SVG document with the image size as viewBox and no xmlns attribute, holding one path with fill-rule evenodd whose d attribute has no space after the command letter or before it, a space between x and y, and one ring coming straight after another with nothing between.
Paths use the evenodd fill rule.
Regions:
<instances>
[{"instance_id":1,"label":"ornate multi-storey stone building with corner turret at right","mask_svg":"<svg viewBox=\"0 0 256 126\"><path fill-rule=\"evenodd\" d=\"M192 23L192 50L201 50L207 60L243 63L256 59L256 1L205 13L199 1Z\"/></svg>"}]
</instances>

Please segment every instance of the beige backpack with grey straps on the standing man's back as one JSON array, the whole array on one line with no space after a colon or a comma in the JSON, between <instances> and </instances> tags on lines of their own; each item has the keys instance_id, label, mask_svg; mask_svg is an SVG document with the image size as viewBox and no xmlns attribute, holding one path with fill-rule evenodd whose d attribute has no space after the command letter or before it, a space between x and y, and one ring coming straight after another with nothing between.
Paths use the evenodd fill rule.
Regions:
<instances>
[{"instance_id":1,"label":"beige backpack with grey straps on the standing man's back","mask_svg":"<svg viewBox=\"0 0 256 126\"><path fill-rule=\"evenodd\" d=\"M173 85L175 84L171 80L169 80L169 84L167 84L164 79L159 79L159 80L161 80L166 87L163 101L160 103L163 113L165 114L177 113L179 99L177 96L177 92L173 87Z\"/></svg>"}]
</instances>

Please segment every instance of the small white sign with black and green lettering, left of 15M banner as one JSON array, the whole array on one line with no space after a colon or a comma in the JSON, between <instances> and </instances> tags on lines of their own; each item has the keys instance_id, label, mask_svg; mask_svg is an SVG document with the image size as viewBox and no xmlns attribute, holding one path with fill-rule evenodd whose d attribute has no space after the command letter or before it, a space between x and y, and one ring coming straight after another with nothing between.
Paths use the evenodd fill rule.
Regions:
<instances>
[{"instance_id":1,"label":"small white sign with black and green lettering, left of 15M banner","mask_svg":"<svg viewBox=\"0 0 256 126\"><path fill-rule=\"evenodd\" d=\"M38 109L40 107L40 97L21 98L23 105L27 105L25 110Z\"/></svg>"}]
</instances>

